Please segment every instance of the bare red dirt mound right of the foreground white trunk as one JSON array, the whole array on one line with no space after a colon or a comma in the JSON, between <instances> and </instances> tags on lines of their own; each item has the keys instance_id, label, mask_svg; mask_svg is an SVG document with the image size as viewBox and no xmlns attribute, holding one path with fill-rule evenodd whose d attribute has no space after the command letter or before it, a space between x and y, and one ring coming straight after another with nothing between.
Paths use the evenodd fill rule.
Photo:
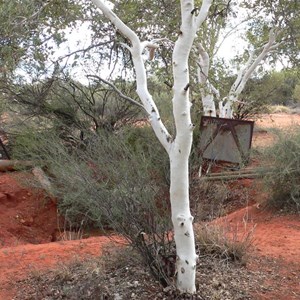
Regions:
<instances>
[{"instance_id":1,"label":"bare red dirt mound right of the foreground white trunk","mask_svg":"<svg viewBox=\"0 0 300 300\"><path fill-rule=\"evenodd\" d=\"M254 245L261 255L299 263L300 271L299 215L276 215L253 205L220 218L216 223L239 234L253 230Z\"/></svg>"}]
</instances>

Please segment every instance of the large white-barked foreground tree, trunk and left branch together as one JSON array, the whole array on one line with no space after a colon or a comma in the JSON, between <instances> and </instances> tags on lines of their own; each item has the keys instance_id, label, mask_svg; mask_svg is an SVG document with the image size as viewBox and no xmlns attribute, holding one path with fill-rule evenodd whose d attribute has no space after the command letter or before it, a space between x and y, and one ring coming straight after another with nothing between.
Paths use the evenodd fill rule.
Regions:
<instances>
[{"instance_id":1,"label":"large white-barked foreground tree, trunk and left branch together","mask_svg":"<svg viewBox=\"0 0 300 300\"><path fill-rule=\"evenodd\" d=\"M177 252L177 288L181 292L194 293L196 291L197 255L192 224L193 217L189 205L188 165L194 125L190 115L188 58L197 31L207 17L212 0L203 0L201 8L195 8L193 0L180 1L181 26L172 55L174 79L172 103L176 136L171 136L162 123L157 106L147 87L143 52L145 48L150 50L157 48L157 41L141 41L137 34L109 8L106 1L92 1L131 43L130 46L125 45L125 47L132 55L137 94L148 114L157 138L170 159L170 200Z\"/></svg>"}]
</instances>

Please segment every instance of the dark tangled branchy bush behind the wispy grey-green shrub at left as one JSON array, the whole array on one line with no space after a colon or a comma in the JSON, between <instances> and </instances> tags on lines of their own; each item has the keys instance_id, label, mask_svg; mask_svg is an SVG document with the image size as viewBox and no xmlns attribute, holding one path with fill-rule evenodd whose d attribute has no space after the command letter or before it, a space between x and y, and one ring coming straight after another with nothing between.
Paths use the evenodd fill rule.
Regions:
<instances>
[{"instance_id":1,"label":"dark tangled branchy bush behind the wispy grey-green shrub at left","mask_svg":"<svg viewBox=\"0 0 300 300\"><path fill-rule=\"evenodd\" d=\"M133 99L134 87L119 78L112 88L95 76L83 85L63 73L54 73L35 84L11 83L2 91L6 100L14 104L10 110L18 111L19 117L14 117L15 129L8 132L18 134L21 127L17 124L26 119L27 126L55 129L64 141L80 144L89 133L113 132L144 116L140 104Z\"/></svg>"}]
</instances>

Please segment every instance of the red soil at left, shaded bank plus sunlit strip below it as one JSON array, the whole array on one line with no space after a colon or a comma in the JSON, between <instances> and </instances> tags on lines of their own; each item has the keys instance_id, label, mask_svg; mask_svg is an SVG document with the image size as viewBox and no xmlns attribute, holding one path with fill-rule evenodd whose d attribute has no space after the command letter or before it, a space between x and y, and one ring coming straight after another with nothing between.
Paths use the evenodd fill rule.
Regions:
<instances>
[{"instance_id":1,"label":"red soil at left, shaded bank plus sunlit strip below it","mask_svg":"<svg viewBox=\"0 0 300 300\"><path fill-rule=\"evenodd\" d=\"M56 203L20 185L20 179L31 176L0 173L0 300L13 299L13 283L33 272L99 256L103 247L120 242L108 237L52 242L59 231Z\"/></svg>"}]
</instances>

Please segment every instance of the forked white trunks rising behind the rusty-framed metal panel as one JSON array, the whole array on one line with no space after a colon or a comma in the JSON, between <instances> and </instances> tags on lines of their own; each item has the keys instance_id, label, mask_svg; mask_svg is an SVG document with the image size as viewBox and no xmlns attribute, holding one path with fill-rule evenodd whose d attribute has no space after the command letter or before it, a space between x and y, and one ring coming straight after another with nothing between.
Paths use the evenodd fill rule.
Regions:
<instances>
[{"instance_id":1,"label":"forked white trunks rising behind the rusty-framed metal panel","mask_svg":"<svg viewBox=\"0 0 300 300\"><path fill-rule=\"evenodd\" d=\"M201 44L198 45L198 82L200 83L200 92L205 116L216 116L215 96L219 102L219 117L229 119L233 117L234 104L238 101L238 98L244 90L246 83L251 78L251 75L257 66L259 66L266 58L268 53L275 50L280 45L280 43L276 42L278 34L279 31L274 29L270 30L268 42L262 47L260 53L255 56L259 49L250 53L247 63L238 72L236 80L231 86L228 95L222 100L220 100L218 90L216 90L209 82L209 55Z\"/></svg>"}]
</instances>

